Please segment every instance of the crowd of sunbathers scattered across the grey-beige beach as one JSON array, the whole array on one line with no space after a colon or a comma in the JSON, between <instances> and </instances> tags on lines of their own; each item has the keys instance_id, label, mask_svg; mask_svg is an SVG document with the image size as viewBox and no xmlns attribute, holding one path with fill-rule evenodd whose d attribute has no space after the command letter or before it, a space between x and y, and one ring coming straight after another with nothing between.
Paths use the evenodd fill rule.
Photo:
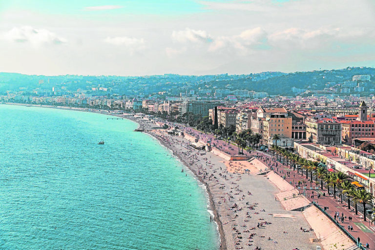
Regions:
<instances>
[{"instance_id":1,"label":"crowd of sunbathers scattered across the grey-beige beach","mask_svg":"<svg viewBox=\"0 0 375 250\"><path fill-rule=\"evenodd\" d=\"M215 194L211 200L217 206L217 209L213 210L216 211L214 220L218 223L221 235L221 249L280 249L281 246L278 246L280 240L284 242L288 238L298 237L295 233L299 227L293 229L292 236L288 236L290 229L288 225L285 225L284 229L273 226L274 220L280 218L273 217L273 213L261 207L262 201L253 198L253 190L243 190L239 185L244 173L228 171L223 159L218 162L217 156L195 149L191 142L182 137L171 136L158 129L147 130L147 133L158 138L161 143L171 149L173 155L179 157L206 185L209 194ZM192 133L191 135L205 140L198 134ZM214 157L215 161L213 161ZM265 166L264 170L267 169L268 167ZM214 205L212 202L211 206ZM301 233L313 233L311 228L307 229L307 224L303 226L303 229ZM278 237L275 238L275 233L268 234L268 232L278 232Z\"/></svg>"}]
</instances>

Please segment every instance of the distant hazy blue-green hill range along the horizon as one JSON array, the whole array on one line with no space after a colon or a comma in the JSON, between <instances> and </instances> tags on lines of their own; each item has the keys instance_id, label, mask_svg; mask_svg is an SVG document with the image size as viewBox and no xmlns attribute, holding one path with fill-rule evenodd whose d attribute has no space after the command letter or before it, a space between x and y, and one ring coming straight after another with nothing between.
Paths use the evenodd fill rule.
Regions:
<instances>
[{"instance_id":1,"label":"distant hazy blue-green hill range along the horizon","mask_svg":"<svg viewBox=\"0 0 375 250\"><path fill-rule=\"evenodd\" d=\"M364 94L375 88L375 68L348 67L336 70L309 72L262 72L249 75L202 75L186 76L176 74L154 76L80 76L80 75L23 75L19 73L0 73L0 93L5 91L51 90L52 87L64 87L66 90L90 90L92 87L108 88L109 93L120 95L150 95L165 91L169 95L178 95L190 89L246 89L268 92L270 95L295 95L292 87L323 92L327 87L341 87L345 81L351 81L354 75L371 75L366 83ZM295 90L295 89L294 89ZM308 92L309 92L308 91Z\"/></svg>"}]
</instances>

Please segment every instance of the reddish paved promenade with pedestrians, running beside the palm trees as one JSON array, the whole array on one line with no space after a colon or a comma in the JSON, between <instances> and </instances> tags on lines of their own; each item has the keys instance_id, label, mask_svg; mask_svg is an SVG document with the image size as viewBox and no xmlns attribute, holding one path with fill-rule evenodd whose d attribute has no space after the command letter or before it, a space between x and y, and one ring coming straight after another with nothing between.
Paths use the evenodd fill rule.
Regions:
<instances>
[{"instance_id":1,"label":"reddish paved promenade with pedestrians, running beside the palm trees","mask_svg":"<svg viewBox=\"0 0 375 250\"><path fill-rule=\"evenodd\" d=\"M190 127L182 127L182 130L185 133L198 138L200 141L206 143L211 142L211 146L216 147L222 152L230 155L238 155L237 146L229 144L223 140L217 140L214 135L203 133ZM333 195L329 195L326 188L323 187L323 189L321 189L317 184L315 184L315 182L310 182L309 179L306 179L306 174L303 175L305 171L300 169L298 173L297 169L293 170L293 167L283 165L281 162L276 161L276 158L272 155L272 153L264 153L259 151L249 153L244 150L244 154L256 157L265 166L272 167L273 164L273 170L275 173L282 178L285 177L285 180L289 182L296 190L298 190L300 194L303 194L310 202L317 203L321 208L326 207L326 212L332 217L334 217L334 214L337 212L339 216L343 215L344 221L337 221L337 223L345 228L355 239L359 238L363 246L366 246L368 243L369 249L375 249L375 225L370 225L369 221L371 221L371 218L367 218L367 222L364 222L363 213L361 212L359 204L358 215L355 215L355 212L352 209L354 206L353 202L351 202L351 209L348 209L348 204L346 203L344 196L343 201L340 201L338 189L336 189L336 199L334 199ZM299 182L301 184L298 187ZM331 188L330 192L333 192L333 188ZM323 193L325 193L325 196ZM351 221L349 221L349 216L352 217ZM353 230L351 227L353 227Z\"/></svg>"}]
</instances>

